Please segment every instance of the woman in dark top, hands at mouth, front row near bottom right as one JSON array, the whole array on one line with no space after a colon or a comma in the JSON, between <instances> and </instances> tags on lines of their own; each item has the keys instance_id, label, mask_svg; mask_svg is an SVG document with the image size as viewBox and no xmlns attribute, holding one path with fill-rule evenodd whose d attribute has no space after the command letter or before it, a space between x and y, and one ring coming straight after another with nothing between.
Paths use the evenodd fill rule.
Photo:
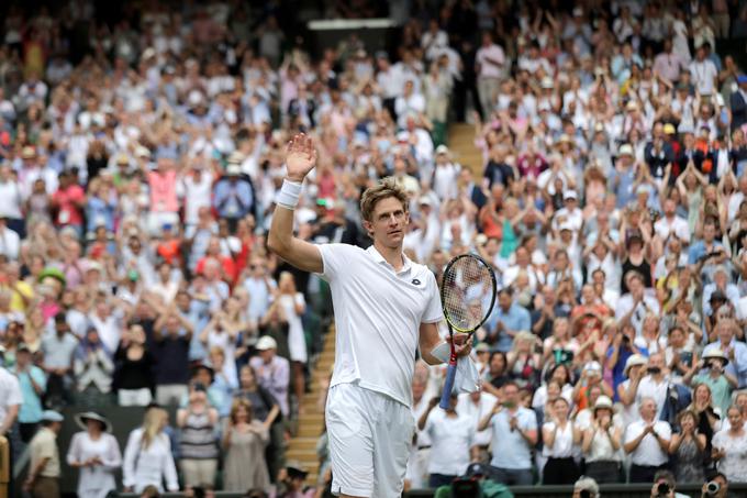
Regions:
<instances>
[{"instance_id":1,"label":"woman in dark top, hands at mouth, front row near bottom right","mask_svg":"<svg viewBox=\"0 0 747 498\"><path fill-rule=\"evenodd\" d=\"M682 432L672 434L669 454L674 455L674 473L678 483L702 483L705 457L705 434L698 432L695 412L685 410L678 417Z\"/></svg>"}]
</instances>

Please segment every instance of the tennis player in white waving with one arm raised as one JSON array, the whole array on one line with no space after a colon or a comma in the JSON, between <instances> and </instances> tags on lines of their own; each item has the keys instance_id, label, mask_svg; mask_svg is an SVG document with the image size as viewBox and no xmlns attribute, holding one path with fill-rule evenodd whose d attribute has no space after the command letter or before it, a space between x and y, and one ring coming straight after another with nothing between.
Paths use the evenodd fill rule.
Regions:
<instances>
[{"instance_id":1,"label":"tennis player in white waving with one arm raised","mask_svg":"<svg viewBox=\"0 0 747 498\"><path fill-rule=\"evenodd\" d=\"M408 197L391 178L360 199L363 224L374 240L368 250L293 236L293 209L315 162L312 140L296 135L268 245L290 264L321 274L332 289L337 332L326 405L332 491L399 497L415 430L410 406L416 351L432 365L443 363L432 354L444 342L438 288L426 266L402 253ZM460 356L469 354L464 337L455 341Z\"/></svg>"}]
</instances>

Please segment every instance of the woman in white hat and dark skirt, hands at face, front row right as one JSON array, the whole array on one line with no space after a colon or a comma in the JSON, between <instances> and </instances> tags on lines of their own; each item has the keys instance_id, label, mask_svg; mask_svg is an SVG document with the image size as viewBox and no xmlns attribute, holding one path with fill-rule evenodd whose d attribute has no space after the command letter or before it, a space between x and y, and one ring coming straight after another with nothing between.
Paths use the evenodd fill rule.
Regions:
<instances>
[{"instance_id":1,"label":"woman in white hat and dark skirt, hands at face, front row right","mask_svg":"<svg viewBox=\"0 0 747 498\"><path fill-rule=\"evenodd\" d=\"M581 452L587 462L586 475L599 484L620 482L622 428L614 423L612 399L600 396L594 403L591 424L583 431Z\"/></svg>"}]
</instances>

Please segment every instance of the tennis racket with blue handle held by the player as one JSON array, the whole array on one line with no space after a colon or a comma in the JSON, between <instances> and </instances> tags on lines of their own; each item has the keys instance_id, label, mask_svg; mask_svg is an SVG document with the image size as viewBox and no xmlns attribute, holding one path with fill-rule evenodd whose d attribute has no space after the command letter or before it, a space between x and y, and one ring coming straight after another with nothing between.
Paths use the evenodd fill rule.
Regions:
<instances>
[{"instance_id":1,"label":"tennis racket with blue handle held by the player","mask_svg":"<svg viewBox=\"0 0 747 498\"><path fill-rule=\"evenodd\" d=\"M449 408L449 398L457 374L457 352L454 333L468 334L467 341L490 317L495 303L495 274L493 268L479 256L461 254L456 256L444 270L441 285L441 303L451 337L451 355L446 369L444 391L439 407Z\"/></svg>"}]
</instances>

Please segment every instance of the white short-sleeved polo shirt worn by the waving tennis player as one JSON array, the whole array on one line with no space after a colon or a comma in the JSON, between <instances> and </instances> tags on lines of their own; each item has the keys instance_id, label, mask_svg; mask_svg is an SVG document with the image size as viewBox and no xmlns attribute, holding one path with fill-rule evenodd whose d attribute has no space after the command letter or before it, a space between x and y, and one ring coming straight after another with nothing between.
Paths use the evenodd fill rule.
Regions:
<instances>
[{"instance_id":1,"label":"white short-sleeved polo shirt worn by the waving tennis player","mask_svg":"<svg viewBox=\"0 0 747 498\"><path fill-rule=\"evenodd\" d=\"M357 383L410 407L420 325L443 319L436 277L404 254L395 272L374 246L317 247L335 307L331 387Z\"/></svg>"}]
</instances>

